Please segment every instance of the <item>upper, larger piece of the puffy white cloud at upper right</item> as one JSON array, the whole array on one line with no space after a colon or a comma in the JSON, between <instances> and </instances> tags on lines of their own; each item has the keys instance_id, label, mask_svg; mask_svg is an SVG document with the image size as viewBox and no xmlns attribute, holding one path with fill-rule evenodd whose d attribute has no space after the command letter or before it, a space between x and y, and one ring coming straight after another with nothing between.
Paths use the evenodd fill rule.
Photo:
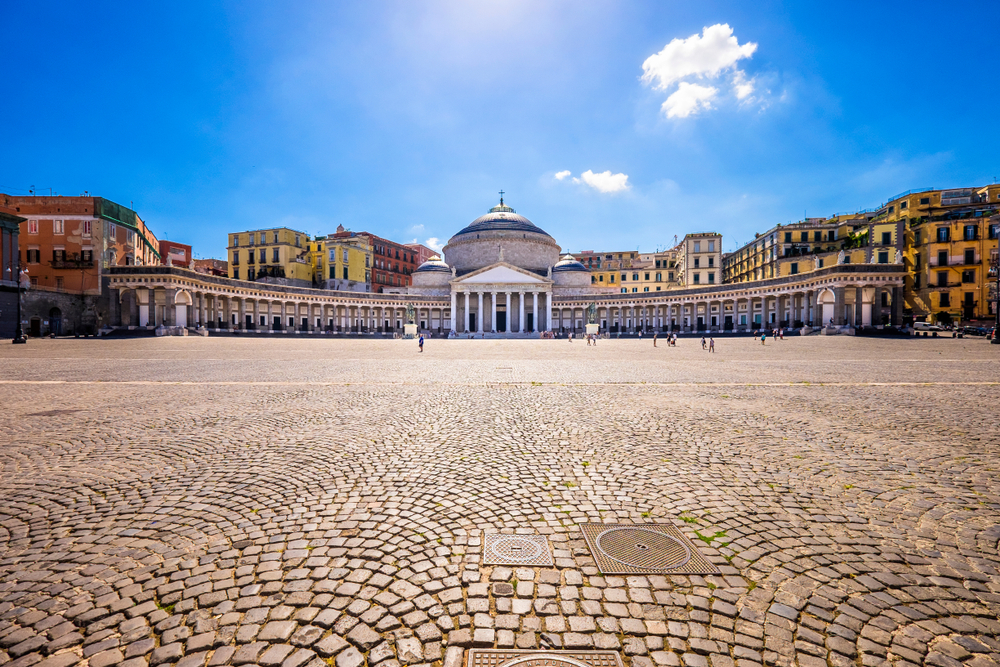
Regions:
<instances>
[{"instance_id":1,"label":"upper, larger piece of the puffy white cloud at upper right","mask_svg":"<svg viewBox=\"0 0 1000 667\"><path fill-rule=\"evenodd\" d=\"M700 36L695 33L687 39L673 39L662 51L646 58L642 80L657 90L667 90L685 77L713 78L756 50L757 44L740 45L728 24L717 23L703 28Z\"/></svg>"}]
</instances>

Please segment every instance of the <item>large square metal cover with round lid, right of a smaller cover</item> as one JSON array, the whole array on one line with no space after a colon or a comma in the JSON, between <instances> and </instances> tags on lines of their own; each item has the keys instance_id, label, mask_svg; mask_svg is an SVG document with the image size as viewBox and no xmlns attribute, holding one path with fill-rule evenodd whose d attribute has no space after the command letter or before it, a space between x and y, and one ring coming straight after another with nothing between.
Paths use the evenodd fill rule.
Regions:
<instances>
[{"instance_id":1,"label":"large square metal cover with round lid, right of a smaller cover","mask_svg":"<svg viewBox=\"0 0 1000 667\"><path fill-rule=\"evenodd\" d=\"M719 574L670 524L584 523L580 529L602 574Z\"/></svg>"}]
</instances>

